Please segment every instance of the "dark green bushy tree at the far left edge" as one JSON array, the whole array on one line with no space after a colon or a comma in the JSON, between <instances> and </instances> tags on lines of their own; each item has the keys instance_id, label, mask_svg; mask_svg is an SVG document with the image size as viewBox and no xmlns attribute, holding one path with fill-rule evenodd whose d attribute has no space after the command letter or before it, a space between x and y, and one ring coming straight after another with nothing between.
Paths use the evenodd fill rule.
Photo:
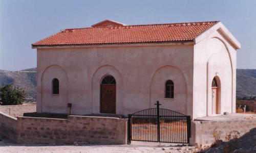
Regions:
<instances>
[{"instance_id":1,"label":"dark green bushy tree at the far left edge","mask_svg":"<svg viewBox=\"0 0 256 153\"><path fill-rule=\"evenodd\" d=\"M23 104L27 93L20 88L8 84L0 87L0 104L1 105L21 105Z\"/></svg>"}]
</instances>

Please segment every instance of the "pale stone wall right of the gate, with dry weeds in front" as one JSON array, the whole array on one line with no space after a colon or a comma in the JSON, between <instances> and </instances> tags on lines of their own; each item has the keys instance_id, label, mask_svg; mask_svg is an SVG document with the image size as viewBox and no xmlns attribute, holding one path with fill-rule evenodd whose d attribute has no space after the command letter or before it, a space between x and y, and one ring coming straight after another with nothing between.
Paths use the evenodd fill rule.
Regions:
<instances>
[{"instance_id":1,"label":"pale stone wall right of the gate, with dry weeds in front","mask_svg":"<svg viewBox=\"0 0 256 153\"><path fill-rule=\"evenodd\" d=\"M236 130L240 136L256 127L255 119L231 120L231 121L192 121L190 145L212 144L215 140L212 136L214 129L221 132L221 140L225 141L226 134Z\"/></svg>"}]
</instances>

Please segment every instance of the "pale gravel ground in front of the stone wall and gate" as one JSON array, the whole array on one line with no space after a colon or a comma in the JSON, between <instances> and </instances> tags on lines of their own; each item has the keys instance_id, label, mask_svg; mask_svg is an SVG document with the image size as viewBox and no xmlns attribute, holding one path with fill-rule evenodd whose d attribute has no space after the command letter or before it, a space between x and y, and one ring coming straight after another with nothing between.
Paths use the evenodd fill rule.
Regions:
<instances>
[{"instance_id":1,"label":"pale gravel ground in front of the stone wall and gate","mask_svg":"<svg viewBox=\"0 0 256 153\"><path fill-rule=\"evenodd\" d=\"M196 152L198 149L192 146L174 146L170 144L132 142L132 145L31 145L16 144L7 139L0 139L0 152Z\"/></svg>"}]
</instances>

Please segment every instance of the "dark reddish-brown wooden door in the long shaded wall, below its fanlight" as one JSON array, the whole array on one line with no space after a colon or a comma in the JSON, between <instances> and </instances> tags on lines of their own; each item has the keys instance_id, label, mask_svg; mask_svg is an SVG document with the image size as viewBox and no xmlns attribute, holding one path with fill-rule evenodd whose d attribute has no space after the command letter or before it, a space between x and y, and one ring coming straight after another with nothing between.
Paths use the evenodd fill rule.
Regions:
<instances>
[{"instance_id":1,"label":"dark reddish-brown wooden door in the long shaded wall, below its fanlight","mask_svg":"<svg viewBox=\"0 0 256 153\"><path fill-rule=\"evenodd\" d=\"M100 113L116 114L116 85L100 85Z\"/></svg>"}]
</instances>

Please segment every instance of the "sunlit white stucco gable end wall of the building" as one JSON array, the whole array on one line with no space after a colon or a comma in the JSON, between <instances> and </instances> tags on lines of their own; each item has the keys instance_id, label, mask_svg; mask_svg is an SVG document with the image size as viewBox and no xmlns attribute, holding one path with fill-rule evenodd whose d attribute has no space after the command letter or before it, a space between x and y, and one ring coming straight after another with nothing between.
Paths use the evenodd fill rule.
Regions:
<instances>
[{"instance_id":1,"label":"sunlit white stucco gable end wall of the building","mask_svg":"<svg viewBox=\"0 0 256 153\"><path fill-rule=\"evenodd\" d=\"M194 46L194 118L212 115L211 82L217 76L219 109L217 114L235 113L236 49L220 31L204 34Z\"/></svg>"}]
</instances>

